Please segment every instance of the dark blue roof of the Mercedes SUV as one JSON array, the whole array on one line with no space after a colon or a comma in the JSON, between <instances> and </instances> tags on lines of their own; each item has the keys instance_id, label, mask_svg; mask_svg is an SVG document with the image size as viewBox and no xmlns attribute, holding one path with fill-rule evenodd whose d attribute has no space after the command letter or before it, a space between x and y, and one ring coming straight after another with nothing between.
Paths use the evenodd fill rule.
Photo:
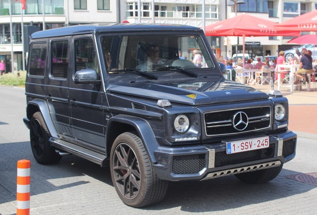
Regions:
<instances>
[{"instance_id":1,"label":"dark blue roof of the Mercedes SUV","mask_svg":"<svg viewBox=\"0 0 317 215\"><path fill-rule=\"evenodd\" d=\"M170 25L170 24L143 24L143 23L100 23L100 24L84 24L73 25L68 27L60 27L49 30L37 31L30 35L31 39L58 37L79 34L90 34L93 32L109 33L109 32L144 32L144 31L202 31L200 28L188 25Z\"/></svg>"}]
</instances>

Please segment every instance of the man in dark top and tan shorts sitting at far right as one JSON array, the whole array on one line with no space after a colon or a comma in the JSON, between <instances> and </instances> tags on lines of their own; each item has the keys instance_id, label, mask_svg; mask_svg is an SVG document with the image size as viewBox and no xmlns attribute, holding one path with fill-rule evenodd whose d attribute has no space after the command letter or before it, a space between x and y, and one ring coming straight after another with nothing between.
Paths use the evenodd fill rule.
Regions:
<instances>
[{"instance_id":1,"label":"man in dark top and tan shorts sitting at far right","mask_svg":"<svg viewBox=\"0 0 317 215\"><path fill-rule=\"evenodd\" d=\"M300 61L300 68L295 72L295 82L294 84L299 84L300 79L304 79L304 83L306 82L307 77L303 77L302 74L305 73L311 74L313 73L313 59L312 56L308 54L308 51L306 48L303 48L301 51L302 57Z\"/></svg>"}]
</instances>

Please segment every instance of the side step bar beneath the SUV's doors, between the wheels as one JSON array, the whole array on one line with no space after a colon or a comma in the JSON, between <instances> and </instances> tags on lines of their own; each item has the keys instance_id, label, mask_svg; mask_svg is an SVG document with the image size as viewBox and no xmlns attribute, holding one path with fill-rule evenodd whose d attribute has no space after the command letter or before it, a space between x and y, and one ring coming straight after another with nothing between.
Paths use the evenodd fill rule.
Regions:
<instances>
[{"instance_id":1,"label":"side step bar beneath the SUV's doors, between the wheels","mask_svg":"<svg viewBox=\"0 0 317 215\"><path fill-rule=\"evenodd\" d=\"M86 160L89 160L91 162L94 162L96 164L99 164L100 166L107 166L107 156L100 154L98 152L86 149L84 147L74 145L72 143L66 142L64 140L60 139L53 139L51 138L50 143L52 146L61 149L65 152L69 152L71 154L77 155L79 157L85 158Z\"/></svg>"}]
</instances>

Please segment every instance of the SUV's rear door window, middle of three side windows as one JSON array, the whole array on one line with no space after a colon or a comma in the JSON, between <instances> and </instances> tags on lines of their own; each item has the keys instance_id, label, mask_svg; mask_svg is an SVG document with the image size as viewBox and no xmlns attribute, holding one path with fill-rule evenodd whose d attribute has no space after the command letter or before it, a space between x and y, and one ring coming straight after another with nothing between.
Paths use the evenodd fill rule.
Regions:
<instances>
[{"instance_id":1,"label":"SUV's rear door window, middle of three side windows","mask_svg":"<svg viewBox=\"0 0 317 215\"><path fill-rule=\"evenodd\" d=\"M54 78L67 78L69 63L68 40L52 42L51 75Z\"/></svg>"}]
</instances>

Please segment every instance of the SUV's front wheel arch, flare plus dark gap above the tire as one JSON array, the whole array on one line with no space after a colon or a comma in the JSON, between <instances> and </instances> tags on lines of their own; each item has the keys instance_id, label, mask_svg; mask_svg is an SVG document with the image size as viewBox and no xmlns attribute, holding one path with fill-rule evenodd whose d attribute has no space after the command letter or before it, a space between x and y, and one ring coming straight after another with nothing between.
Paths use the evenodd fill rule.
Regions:
<instances>
[{"instance_id":1,"label":"SUV's front wheel arch, flare plus dark gap above the tire","mask_svg":"<svg viewBox=\"0 0 317 215\"><path fill-rule=\"evenodd\" d=\"M136 132L143 141L151 162L157 162L154 151L159 147L159 143L150 124L143 118L124 114L119 114L109 119L106 129L107 156L110 157L114 140L124 132Z\"/></svg>"}]
</instances>

